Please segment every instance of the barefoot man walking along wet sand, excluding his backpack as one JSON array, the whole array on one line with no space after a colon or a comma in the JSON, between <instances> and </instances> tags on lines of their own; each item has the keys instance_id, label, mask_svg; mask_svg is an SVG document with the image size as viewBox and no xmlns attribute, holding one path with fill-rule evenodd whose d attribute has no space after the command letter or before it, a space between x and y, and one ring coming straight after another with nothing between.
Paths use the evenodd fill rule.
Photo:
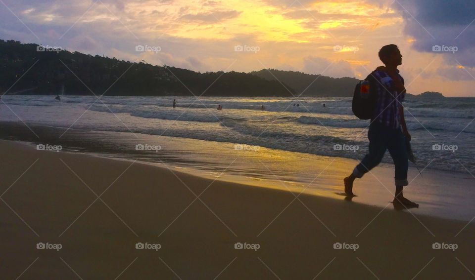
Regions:
<instances>
[{"instance_id":1,"label":"barefoot man walking along wet sand, excluding his backpack","mask_svg":"<svg viewBox=\"0 0 475 280\"><path fill-rule=\"evenodd\" d=\"M406 199L402 189L409 183L407 181L408 158L406 154L406 138L411 140L404 120L404 107L402 102L406 94L404 79L399 75L397 66L402 64L402 55L397 45L383 46L378 53L385 66L378 67L372 75L377 82L377 102L374 117L371 119L368 131L369 153L353 169L353 172L343 181L347 196L354 196L353 182L361 178L377 166L386 149L394 161L396 193L394 204L417 207L418 204Z\"/></svg>"}]
</instances>

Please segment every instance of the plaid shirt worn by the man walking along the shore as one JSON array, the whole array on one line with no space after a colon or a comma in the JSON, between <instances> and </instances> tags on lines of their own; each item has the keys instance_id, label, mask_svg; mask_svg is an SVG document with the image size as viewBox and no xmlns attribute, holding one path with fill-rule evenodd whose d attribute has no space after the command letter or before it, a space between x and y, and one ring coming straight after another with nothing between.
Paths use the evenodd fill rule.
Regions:
<instances>
[{"instance_id":1,"label":"plaid shirt worn by the man walking along the shore","mask_svg":"<svg viewBox=\"0 0 475 280\"><path fill-rule=\"evenodd\" d=\"M404 84L404 79L399 75L399 70L397 75ZM378 99L376 102L376 111L375 117L371 119L371 122L376 121L385 126L391 128L399 128L401 125L401 116L399 114L399 107L401 107L401 102L404 102L405 92L398 93L394 90L394 81L389 77L386 72L376 71L374 72L378 86ZM397 100L395 100L397 99Z\"/></svg>"}]
</instances>

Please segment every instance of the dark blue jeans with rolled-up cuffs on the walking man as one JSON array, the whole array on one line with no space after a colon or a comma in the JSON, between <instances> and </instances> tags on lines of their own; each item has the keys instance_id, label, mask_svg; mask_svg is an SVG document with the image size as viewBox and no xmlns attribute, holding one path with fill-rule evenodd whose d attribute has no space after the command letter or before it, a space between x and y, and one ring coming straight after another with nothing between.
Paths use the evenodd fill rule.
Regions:
<instances>
[{"instance_id":1,"label":"dark blue jeans with rolled-up cuffs on the walking man","mask_svg":"<svg viewBox=\"0 0 475 280\"><path fill-rule=\"evenodd\" d=\"M376 121L372 122L368 131L370 140L369 153L361 160L355 169L353 175L361 178L375 166L377 166L386 153L386 149L391 154L394 161L394 183L396 186L407 186L407 169L409 167L406 139L402 134L401 127L391 128Z\"/></svg>"}]
</instances>

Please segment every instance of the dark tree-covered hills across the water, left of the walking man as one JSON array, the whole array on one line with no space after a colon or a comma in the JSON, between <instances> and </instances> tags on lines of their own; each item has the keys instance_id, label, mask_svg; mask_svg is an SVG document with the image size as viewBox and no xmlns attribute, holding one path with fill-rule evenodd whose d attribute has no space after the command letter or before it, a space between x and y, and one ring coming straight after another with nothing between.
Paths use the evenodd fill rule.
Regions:
<instances>
[{"instance_id":1,"label":"dark tree-covered hills across the water, left of the walking man","mask_svg":"<svg viewBox=\"0 0 475 280\"><path fill-rule=\"evenodd\" d=\"M291 97L311 84L302 96L352 96L357 82L275 69L199 73L0 40L0 90L14 84L7 94Z\"/></svg>"}]
</instances>

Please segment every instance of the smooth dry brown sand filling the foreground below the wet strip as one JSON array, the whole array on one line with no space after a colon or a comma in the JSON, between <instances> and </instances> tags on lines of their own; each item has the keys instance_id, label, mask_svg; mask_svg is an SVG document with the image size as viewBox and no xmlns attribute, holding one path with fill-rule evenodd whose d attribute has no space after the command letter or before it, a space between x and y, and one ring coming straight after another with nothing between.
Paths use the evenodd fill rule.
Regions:
<instances>
[{"instance_id":1,"label":"smooth dry brown sand filling the foreground below the wet strip","mask_svg":"<svg viewBox=\"0 0 475 280\"><path fill-rule=\"evenodd\" d=\"M4 279L470 279L475 270L475 227L463 221L12 141L0 155Z\"/></svg>"}]
</instances>

